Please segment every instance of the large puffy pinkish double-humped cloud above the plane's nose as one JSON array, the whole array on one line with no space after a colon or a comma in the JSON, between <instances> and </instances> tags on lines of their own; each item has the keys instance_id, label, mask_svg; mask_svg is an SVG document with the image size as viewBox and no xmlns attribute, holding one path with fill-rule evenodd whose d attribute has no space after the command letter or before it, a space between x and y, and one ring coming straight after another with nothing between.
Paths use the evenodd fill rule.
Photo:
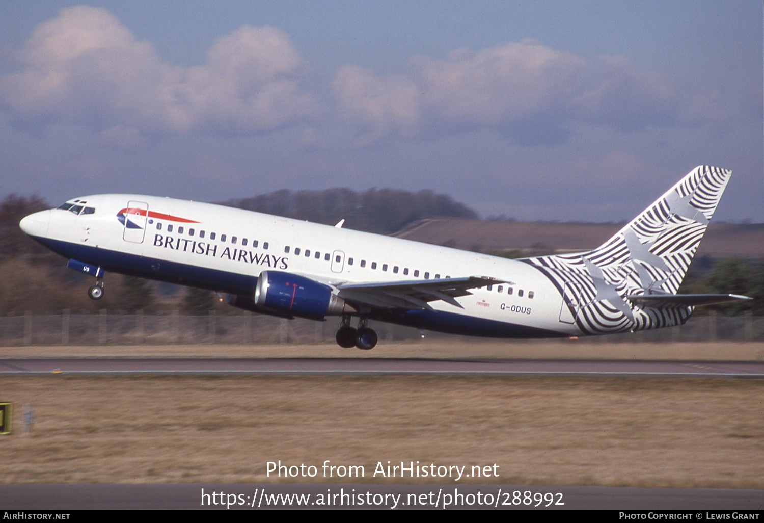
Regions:
<instances>
[{"instance_id":1,"label":"large puffy pinkish double-humped cloud above the plane's nose","mask_svg":"<svg viewBox=\"0 0 764 523\"><path fill-rule=\"evenodd\" d=\"M79 6L37 26L15 58L22 68L0 77L0 100L17 122L86 124L121 148L139 133L268 132L318 112L299 89L303 60L276 28L238 28L204 65L180 67L109 11Z\"/></svg>"}]
</instances>

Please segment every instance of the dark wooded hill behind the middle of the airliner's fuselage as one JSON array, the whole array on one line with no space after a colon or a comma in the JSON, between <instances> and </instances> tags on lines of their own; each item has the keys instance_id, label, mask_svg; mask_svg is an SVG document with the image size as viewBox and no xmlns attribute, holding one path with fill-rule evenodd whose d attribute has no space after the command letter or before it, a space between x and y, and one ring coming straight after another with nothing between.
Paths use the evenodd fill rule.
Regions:
<instances>
[{"instance_id":1,"label":"dark wooded hill behind the middle of the airliner's fuselage","mask_svg":"<svg viewBox=\"0 0 764 523\"><path fill-rule=\"evenodd\" d=\"M327 190L277 190L223 205L275 214L310 222L345 226L366 232L392 234L420 219L448 217L478 219L478 213L446 194L431 190L416 193L396 189L370 189L363 193L337 188Z\"/></svg>"}]
</instances>

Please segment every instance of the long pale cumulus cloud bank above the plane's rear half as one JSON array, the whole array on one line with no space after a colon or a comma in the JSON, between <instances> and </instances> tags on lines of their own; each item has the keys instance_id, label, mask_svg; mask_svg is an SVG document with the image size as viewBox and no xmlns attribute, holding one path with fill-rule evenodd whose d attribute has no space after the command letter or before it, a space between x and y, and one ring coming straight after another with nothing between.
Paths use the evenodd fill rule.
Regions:
<instances>
[{"instance_id":1,"label":"long pale cumulus cloud bank above the plane's rear half","mask_svg":"<svg viewBox=\"0 0 764 523\"><path fill-rule=\"evenodd\" d=\"M335 98L362 140L495 128L520 144L554 145L577 122L633 131L684 118L680 93L664 76L626 57L590 62L532 40L416 57L411 70L338 71Z\"/></svg>"}]
</instances>

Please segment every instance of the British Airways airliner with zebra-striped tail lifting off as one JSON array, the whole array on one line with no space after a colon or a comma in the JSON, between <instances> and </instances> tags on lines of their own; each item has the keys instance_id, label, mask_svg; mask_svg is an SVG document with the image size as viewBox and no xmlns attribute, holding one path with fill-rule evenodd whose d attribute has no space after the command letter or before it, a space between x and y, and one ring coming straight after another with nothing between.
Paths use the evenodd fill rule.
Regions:
<instances>
[{"instance_id":1,"label":"British Airways airliner with zebra-striped tail lifting off","mask_svg":"<svg viewBox=\"0 0 764 523\"><path fill-rule=\"evenodd\" d=\"M590 252L518 260L137 194L79 197L20 225L95 278L94 300L114 271L225 293L257 313L340 317L343 347L376 345L370 319L470 336L586 336L681 325L697 305L748 299L676 294L730 174L696 167Z\"/></svg>"}]
</instances>

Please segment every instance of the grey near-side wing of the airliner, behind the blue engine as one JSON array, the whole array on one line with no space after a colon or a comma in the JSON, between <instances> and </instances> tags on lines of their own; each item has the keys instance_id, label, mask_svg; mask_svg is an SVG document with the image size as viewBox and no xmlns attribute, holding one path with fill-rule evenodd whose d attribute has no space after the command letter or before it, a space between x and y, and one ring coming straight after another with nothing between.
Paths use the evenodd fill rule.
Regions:
<instances>
[{"instance_id":1,"label":"grey near-side wing of the airliner, behind the blue engine","mask_svg":"<svg viewBox=\"0 0 764 523\"><path fill-rule=\"evenodd\" d=\"M363 284L340 284L339 296L351 304L367 305L384 309L432 310L429 302L443 300L455 307L461 307L456 298L472 294L469 289L487 285L510 283L487 278L468 276L465 278L439 278L437 280L384 281Z\"/></svg>"}]
</instances>

